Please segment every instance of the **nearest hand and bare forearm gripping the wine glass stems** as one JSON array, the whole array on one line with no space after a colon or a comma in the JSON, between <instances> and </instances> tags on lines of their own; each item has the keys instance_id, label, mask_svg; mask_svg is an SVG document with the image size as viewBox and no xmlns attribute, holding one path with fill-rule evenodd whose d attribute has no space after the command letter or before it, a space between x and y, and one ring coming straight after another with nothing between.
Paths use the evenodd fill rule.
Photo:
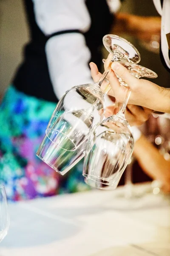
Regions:
<instances>
[{"instance_id":1,"label":"nearest hand and bare forearm gripping the wine glass stems","mask_svg":"<svg viewBox=\"0 0 170 256\"><path fill-rule=\"evenodd\" d=\"M112 55L109 54L105 61L105 68L108 67L111 58ZM170 90L144 79L136 79L119 62L113 62L111 67L112 70L108 73L108 80L112 90L108 92L109 95L114 96L117 101L123 102L127 92L127 88L119 84L115 75L116 73L130 87L130 104L140 105L155 111L170 113ZM92 73L93 72L95 71L92 71Z\"/></svg>"}]
</instances>

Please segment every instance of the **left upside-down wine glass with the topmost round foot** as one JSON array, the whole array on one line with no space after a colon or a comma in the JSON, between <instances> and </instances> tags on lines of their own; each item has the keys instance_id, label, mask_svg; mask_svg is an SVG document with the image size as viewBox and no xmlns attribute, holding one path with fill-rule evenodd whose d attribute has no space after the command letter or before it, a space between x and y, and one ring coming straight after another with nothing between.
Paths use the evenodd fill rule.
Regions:
<instances>
[{"instance_id":1,"label":"left upside-down wine glass with the topmost round foot","mask_svg":"<svg viewBox=\"0 0 170 256\"><path fill-rule=\"evenodd\" d=\"M105 35L103 44L113 54L111 63L138 63L141 59L138 50L119 36ZM62 175L84 157L87 139L102 121L104 95L110 87L102 92L100 86L111 63L95 84L76 86L66 92L51 116L37 156Z\"/></svg>"}]
</instances>

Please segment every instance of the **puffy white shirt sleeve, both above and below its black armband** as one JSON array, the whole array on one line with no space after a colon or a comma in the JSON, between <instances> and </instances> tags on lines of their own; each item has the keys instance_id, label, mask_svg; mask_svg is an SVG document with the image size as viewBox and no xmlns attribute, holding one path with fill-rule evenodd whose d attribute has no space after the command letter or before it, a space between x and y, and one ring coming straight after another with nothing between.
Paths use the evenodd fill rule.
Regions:
<instances>
[{"instance_id":1,"label":"puffy white shirt sleeve, both above and below its black armband","mask_svg":"<svg viewBox=\"0 0 170 256\"><path fill-rule=\"evenodd\" d=\"M33 0L37 25L45 35L67 29L87 32L91 19L85 0ZM93 82L88 67L91 53L84 35L67 33L47 41L46 56L54 92L58 98L71 87Z\"/></svg>"}]
</instances>

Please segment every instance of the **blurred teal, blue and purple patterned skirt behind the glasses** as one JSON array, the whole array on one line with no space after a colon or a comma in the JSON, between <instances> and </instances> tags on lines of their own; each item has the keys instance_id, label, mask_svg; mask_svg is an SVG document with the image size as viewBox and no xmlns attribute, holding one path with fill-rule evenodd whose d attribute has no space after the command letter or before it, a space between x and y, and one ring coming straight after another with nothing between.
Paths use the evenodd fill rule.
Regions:
<instances>
[{"instance_id":1,"label":"blurred teal, blue and purple patterned skirt behind the glasses","mask_svg":"<svg viewBox=\"0 0 170 256\"><path fill-rule=\"evenodd\" d=\"M0 182L8 200L88 189L82 161L63 178L36 156L55 106L8 88L0 105Z\"/></svg>"}]
</instances>

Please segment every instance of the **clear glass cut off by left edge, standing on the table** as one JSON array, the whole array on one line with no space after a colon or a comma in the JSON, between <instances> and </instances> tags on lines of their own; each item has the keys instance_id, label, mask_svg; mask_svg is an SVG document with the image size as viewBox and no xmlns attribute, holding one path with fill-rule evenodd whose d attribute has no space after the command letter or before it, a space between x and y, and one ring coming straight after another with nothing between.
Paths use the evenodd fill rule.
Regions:
<instances>
[{"instance_id":1,"label":"clear glass cut off by left edge, standing on the table","mask_svg":"<svg viewBox=\"0 0 170 256\"><path fill-rule=\"evenodd\" d=\"M6 191L3 185L0 185L0 242L5 238L9 228L8 204Z\"/></svg>"}]
</instances>

